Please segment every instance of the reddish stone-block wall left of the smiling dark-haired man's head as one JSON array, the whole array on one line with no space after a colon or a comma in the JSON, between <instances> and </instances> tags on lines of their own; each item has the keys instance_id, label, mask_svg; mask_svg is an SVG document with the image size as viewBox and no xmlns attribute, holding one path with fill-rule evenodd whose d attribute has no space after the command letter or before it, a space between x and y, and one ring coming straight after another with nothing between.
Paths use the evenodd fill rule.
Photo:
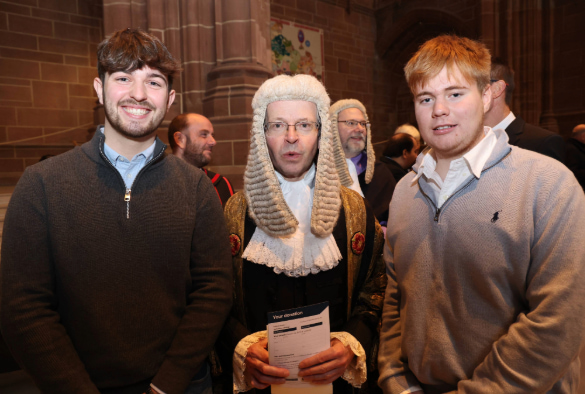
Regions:
<instances>
[{"instance_id":1,"label":"reddish stone-block wall left of the smiling dark-haired man's head","mask_svg":"<svg viewBox=\"0 0 585 394\"><path fill-rule=\"evenodd\" d=\"M0 185L87 140L101 39L101 0L0 1Z\"/></svg>"}]
</instances>

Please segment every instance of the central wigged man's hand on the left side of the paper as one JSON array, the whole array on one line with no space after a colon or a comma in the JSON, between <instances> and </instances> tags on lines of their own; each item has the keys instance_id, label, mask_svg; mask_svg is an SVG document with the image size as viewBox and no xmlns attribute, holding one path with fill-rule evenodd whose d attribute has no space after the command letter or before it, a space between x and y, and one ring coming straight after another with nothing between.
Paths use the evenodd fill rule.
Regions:
<instances>
[{"instance_id":1,"label":"central wigged man's hand on the left side of the paper","mask_svg":"<svg viewBox=\"0 0 585 394\"><path fill-rule=\"evenodd\" d=\"M273 367L268 364L268 340L262 339L248 348L246 370L244 375L252 387L265 389L271 384L284 384L288 369Z\"/></svg>"}]
</instances>

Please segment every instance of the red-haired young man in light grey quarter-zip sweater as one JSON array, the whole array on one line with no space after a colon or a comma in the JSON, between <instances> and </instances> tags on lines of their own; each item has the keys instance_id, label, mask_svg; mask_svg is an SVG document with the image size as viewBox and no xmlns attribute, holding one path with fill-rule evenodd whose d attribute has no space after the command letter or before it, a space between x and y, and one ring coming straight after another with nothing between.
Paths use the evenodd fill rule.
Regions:
<instances>
[{"instance_id":1,"label":"red-haired young man in light grey quarter-zip sweater","mask_svg":"<svg viewBox=\"0 0 585 394\"><path fill-rule=\"evenodd\" d=\"M405 67L429 147L390 204L385 393L575 393L585 197L554 159L483 127L490 55L440 36Z\"/></svg>"}]
</instances>

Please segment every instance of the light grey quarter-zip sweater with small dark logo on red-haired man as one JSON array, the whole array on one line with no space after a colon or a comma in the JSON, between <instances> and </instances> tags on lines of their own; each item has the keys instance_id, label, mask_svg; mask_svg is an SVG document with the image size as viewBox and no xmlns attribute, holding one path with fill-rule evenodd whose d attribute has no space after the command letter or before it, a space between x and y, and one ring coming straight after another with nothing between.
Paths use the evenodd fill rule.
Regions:
<instances>
[{"instance_id":1,"label":"light grey quarter-zip sweater with small dark logo on red-haired man","mask_svg":"<svg viewBox=\"0 0 585 394\"><path fill-rule=\"evenodd\" d=\"M498 141L438 210L398 184L384 250L380 386L399 394L575 393L585 334L585 197L573 174Z\"/></svg>"}]
</instances>

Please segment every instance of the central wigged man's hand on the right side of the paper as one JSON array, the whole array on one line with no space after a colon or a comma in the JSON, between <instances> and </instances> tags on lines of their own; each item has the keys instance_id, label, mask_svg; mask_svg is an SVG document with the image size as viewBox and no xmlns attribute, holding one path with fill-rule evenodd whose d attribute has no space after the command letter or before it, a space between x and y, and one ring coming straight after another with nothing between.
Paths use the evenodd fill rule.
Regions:
<instances>
[{"instance_id":1,"label":"central wigged man's hand on the right side of the paper","mask_svg":"<svg viewBox=\"0 0 585 394\"><path fill-rule=\"evenodd\" d=\"M299 376L313 384L328 384L343 375L355 354L338 339L331 340L331 347L299 364Z\"/></svg>"}]
</instances>

